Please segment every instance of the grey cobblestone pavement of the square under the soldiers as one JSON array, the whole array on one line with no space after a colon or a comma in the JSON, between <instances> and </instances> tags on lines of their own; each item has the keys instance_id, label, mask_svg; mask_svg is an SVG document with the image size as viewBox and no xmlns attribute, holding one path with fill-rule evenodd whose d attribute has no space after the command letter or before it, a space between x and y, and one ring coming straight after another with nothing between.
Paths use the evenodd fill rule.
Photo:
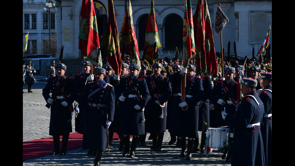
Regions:
<instances>
[{"instance_id":1,"label":"grey cobblestone pavement of the square under the soldiers","mask_svg":"<svg viewBox=\"0 0 295 166\"><path fill-rule=\"evenodd\" d=\"M23 86L23 141L50 137L49 120L50 110L45 107L45 100L42 96L42 89L45 87L44 82L35 82L33 85L33 93L27 93L27 85ZM72 120L74 129L75 120ZM147 134L148 138L149 134ZM199 133L200 136L200 133ZM137 146L135 158L122 158L123 151L119 151L119 141L113 141L110 145L110 154L107 149L104 150L104 155L101 165L105 166L127 166L127 165L142 165L142 166L167 166L167 165L231 165L221 160L222 153L216 149L207 157L205 154L194 153L193 160L179 158L181 148L174 145L168 146L170 140L169 133L164 134L163 146L161 152L152 152L149 148L152 145L151 140L147 140L146 146ZM131 139L130 139L131 140ZM52 143L53 148L53 143ZM93 156L86 155L88 150L77 148L68 151L67 155L45 155L38 158L32 158L23 161L23 165L93 165Z\"/></svg>"}]
</instances>

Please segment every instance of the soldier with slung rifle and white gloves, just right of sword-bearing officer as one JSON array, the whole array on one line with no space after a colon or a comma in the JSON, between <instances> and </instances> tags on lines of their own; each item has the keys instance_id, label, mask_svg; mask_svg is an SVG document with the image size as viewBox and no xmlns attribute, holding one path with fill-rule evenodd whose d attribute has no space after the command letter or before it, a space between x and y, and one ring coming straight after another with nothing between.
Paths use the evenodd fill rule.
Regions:
<instances>
[{"instance_id":1,"label":"soldier with slung rifle and white gloves, just right of sword-bearing officer","mask_svg":"<svg viewBox=\"0 0 295 166\"><path fill-rule=\"evenodd\" d=\"M123 77L115 88L116 100L123 102L120 133L124 135L125 151L123 157L135 157L135 149L138 142L138 136L144 134L144 114L143 109L149 99L147 84L143 78L138 79L135 86L128 92L125 97L121 95L132 85L137 79L140 66L130 64L129 77ZM131 149L129 136L133 135Z\"/></svg>"}]
</instances>

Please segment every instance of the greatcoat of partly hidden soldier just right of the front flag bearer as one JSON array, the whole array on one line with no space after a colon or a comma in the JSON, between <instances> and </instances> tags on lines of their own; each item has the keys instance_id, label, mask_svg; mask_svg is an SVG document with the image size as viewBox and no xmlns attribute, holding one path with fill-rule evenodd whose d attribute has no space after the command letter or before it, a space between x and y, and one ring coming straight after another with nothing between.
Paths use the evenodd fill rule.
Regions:
<instances>
[{"instance_id":1,"label":"greatcoat of partly hidden soldier just right of the front flag bearer","mask_svg":"<svg viewBox=\"0 0 295 166\"><path fill-rule=\"evenodd\" d=\"M203 103L199 107L199 131L206 131L210 127L210 115L209 115L209 99L208 94L213 89L211 77L203 75L202 86L204 89ZM204 123L207 123L207 125Z\"/></svg>"}]
</instances>

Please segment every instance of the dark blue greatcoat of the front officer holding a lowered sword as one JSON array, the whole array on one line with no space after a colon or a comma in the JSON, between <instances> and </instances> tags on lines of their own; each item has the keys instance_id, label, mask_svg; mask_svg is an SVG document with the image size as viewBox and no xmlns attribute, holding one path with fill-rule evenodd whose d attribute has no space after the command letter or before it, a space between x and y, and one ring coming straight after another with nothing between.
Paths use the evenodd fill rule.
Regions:
<instances>
[{"instance_id":1,"label":"dark blue greatcoat of the front officer holding a lowered sword","mask_svg":"<svg viewBox=\"0 0 295 166\"><path fill-rule=\"evenodd\" d=\"M96 90L98 91L94 92ZM113 121L115 111L113 86L104 80L99 84L96 81L87 83L82 95L78 98L78 103L79 107L84 106L82 147L84 149L104 149L107 145L107 114L108 120ZM93 107L93 104L102 106Z\"/></svg>"}]
</instances>

